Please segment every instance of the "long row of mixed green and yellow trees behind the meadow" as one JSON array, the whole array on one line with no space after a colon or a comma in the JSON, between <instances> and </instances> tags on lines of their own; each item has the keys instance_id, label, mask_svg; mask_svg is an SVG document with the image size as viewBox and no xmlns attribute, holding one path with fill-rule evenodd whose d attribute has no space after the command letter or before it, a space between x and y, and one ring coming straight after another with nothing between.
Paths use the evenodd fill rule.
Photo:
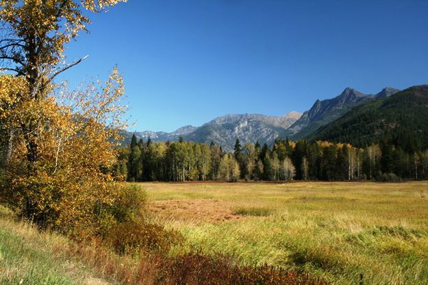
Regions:
<instances>
[{"instance_id":1,"label":"long row of mixed green and yellow trees behind the meadow","mask_svg":"<svg viewBox=\"0 0 428 285\"><path fill-rule=\"evenodd\" d=\"M134 135L120 150L113 173L131 182L427 179L428 150L408 153L386 143L357 148L288 139L277 139L268 147L258 142L241 145L237 139L228 153L215 143L182 138L154 143Z\"/></svg>"}]
</instances>

